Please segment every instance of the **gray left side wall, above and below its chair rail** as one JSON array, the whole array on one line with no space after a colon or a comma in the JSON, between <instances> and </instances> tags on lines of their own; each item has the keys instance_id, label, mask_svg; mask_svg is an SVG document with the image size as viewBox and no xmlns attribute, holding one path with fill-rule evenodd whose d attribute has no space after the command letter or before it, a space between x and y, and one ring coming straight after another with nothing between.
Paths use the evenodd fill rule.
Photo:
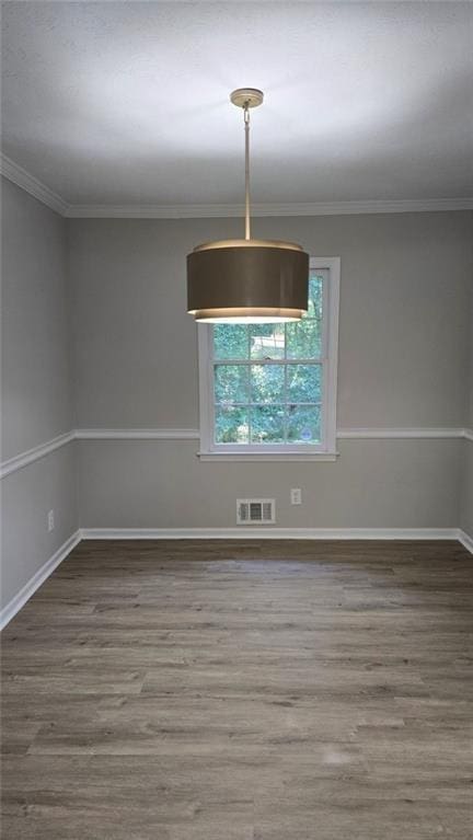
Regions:
<instances>
[{"instance_id":1,"label":"gray left side wall, above and below its chair rail","mask_svg":"<svg viewBox=\"0 0 473 840\"><path fill-rule=\"evenodd\" d=\"M2 180L2 460L72 423L65 220ZM2 605L77 529L73 446L5 476ZM47 511L55 530L47 531Z\"/></svg>"}]
</instances>

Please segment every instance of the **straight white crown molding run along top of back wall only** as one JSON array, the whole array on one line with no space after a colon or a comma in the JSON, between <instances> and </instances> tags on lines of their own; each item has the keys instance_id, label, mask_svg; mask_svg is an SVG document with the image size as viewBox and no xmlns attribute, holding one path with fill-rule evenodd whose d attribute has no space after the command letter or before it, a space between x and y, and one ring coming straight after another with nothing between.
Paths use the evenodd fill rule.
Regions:
<instances>
[{"instance_id":1,"label":"straight white crown molding run along top of back wall only","mask_svg":"<svg viewBox=\"0 0 473 840\"><path fill-rule=\"evenodd\" d=\"M310 204L252 204L252 216L349 216L381 212L473 210L472 198L407 198L402 200L314 202ZM240 204L189 205L69 205L73 219L197 219L243 217Z\"/></svg>"}]
</instances>

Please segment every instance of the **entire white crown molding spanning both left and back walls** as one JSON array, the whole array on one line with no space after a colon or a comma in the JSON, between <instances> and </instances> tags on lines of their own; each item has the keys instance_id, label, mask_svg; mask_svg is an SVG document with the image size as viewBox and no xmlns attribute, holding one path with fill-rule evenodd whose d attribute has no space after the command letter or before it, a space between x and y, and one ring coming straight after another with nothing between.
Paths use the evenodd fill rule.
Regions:
<instances>
[{"instance_id":1,"label":"entire white crown molding spanning both left and back walls","mask_svg":"<svg viewBox=\"0 0 473 840\"><path fill-rule=\"evenodd\" d=\"M242 204L188 205L100 205L68 204L37 177L5 154L0 157L0 172L51 210L69 219L215 219L244 216ZM438 212L473 210L473 196L466 198L403 198L393 200L312 202L253 204L252 216L356 216L380 212Z\"/></svg>"}]
</instances>

